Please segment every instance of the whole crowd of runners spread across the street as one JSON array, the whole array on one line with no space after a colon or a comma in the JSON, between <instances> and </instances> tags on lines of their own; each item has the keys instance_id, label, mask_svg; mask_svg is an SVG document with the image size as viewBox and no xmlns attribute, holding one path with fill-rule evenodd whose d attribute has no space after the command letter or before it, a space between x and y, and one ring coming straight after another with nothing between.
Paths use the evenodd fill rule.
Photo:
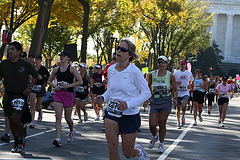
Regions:
<instances>
[{"instance_id":1,"label":"whole crowd of runners spread across the street","mask_svg":"<svg viewBox=\"0 0 240 160\"><path fill-rule=\"evenodd\" d=\"M76 133L72 111L75 110L78 115L79 123L88 121L87 103L92 103L95 121L99 121L100 116L104 117L102 131L106 133L109 159L114 160L120 159L120 134L125 157L150 159L143 146L135 144L141 125L141 104L150 106L149 129L152 137L148 148L152 149L159 142L159 153L164 152L166 123L173 105L176 107L177 129L185 125L187 110L193 112L193 125L197 125L197 118L203 122L204 104L207 104L209 115L212 107L218 106L217 123L224 127L229 100L239 88L236 80L231 77L214 77L212 74L208 78L202 75L201 69L196 69L193 75L187 70L185 60L179 62L179 70L171 73L167 69L168 59L165 56L158 57L158 69L144 77L132 63L138 55L131 41L122 39L116 50L112 62L104 70L101 64L87 70L84 63L70 63L69 52L62 51L59 54L60 61L49 73L42 65L41 55L27 57L20 43L10 43L9 58L0 63L6 116L6 134L1 137L1 141L10 142L11 130L14 138L11 151L21 152L25 148L26 128L34 129L36 126L35 111L38 112L37 121L42 121L42 108L46 108L54 109L56 114L56 138L53 145L61 147L63 111L69 126L67 142L71 143Z\"/></svg>"}]
</instances>

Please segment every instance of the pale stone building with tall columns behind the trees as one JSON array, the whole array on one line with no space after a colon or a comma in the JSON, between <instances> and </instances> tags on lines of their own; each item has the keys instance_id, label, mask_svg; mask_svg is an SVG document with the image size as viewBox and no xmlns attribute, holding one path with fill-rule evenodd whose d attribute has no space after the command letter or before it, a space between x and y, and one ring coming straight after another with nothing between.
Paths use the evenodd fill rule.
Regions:
<instances>
[{"instance_id":1,"label":"pale stone building with tall columns behind the trees","mask_svg":"<svg viewBox=\"0 0 240 160\"><path fill-rule=\"evenodd\" d=\"M208 0L209 13L215 13L211 27L212 41L222 51L222 71L239 70L240 73L240 0Z\"/></svg>"}]
</instances>

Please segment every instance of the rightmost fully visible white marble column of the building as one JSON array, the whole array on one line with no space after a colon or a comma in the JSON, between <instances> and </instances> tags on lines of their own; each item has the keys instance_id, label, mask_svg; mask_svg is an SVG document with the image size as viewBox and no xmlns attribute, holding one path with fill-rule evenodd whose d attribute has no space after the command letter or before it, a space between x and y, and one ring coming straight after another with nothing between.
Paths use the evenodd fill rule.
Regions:
<instances>
[{"instance_id":1,"label":"rightmost fully visible white marble column of the building","mask_svg":"<svg viewBox=\"0 0 240 160\"><path fill-rule=\"evenodd\" d=\"M227 29L225 38L224 60L230 61L232 53L232 30L233 30L233 14L227 14Z\"/></svg>"}]
</instances>

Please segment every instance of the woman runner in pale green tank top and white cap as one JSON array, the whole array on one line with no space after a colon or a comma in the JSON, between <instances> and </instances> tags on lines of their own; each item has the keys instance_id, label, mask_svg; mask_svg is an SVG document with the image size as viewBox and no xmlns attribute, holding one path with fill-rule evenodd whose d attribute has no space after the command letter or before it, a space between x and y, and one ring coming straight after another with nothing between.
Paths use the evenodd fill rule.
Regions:
<instances>
[{"instance_id":1,"label":"woman runner in pale green tank top and white cap","mask_svg":"<svg viewBox=\"0 0 240 160\"><path fill-rule=\"evenodd\" d=\"M175 105L177 104L178 91L175 76L167 70L167 57L160 56L157 62L158 70L152 71L148 77L148 86L152 91L149 114L149 127L152 133L152 139L148 143L148 148L152 149L159 139L158 153L163 153L167 118L172 109L170 86L172 86L174 92L173 102ZM159 136L157 133L157 125L159 126Z\"/></svg>"}]
</instances>

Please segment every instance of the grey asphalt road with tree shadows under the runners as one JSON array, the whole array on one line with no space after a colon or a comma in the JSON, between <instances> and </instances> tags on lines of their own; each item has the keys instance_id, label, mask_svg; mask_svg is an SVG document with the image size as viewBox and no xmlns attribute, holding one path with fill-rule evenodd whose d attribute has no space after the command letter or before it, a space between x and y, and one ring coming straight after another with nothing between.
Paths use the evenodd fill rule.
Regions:
<instances>
[{"instance_id":1,"label":"grey asphalt road with tree shadows under the runners","mask_svg":"<svg viewBox=\"0 0 240 160\"><path fill-rule=\"evenodd\" d=\"M148 149L147 144L151 138L148 127L148 112L140 107L142 116L142 132L138 133L137 143L141 143L152 160L156 159L240 159L240 98L233 98L228 107L225 127L218 124L218 110L213 108L208 115L204 107L203 122L198 121L192 126L193 115L187 111L186 124L177 129L175 109L169 115L167 122L167 135L164 141L165 152L157 153L157 146ZM36 123L36 128L28 128L26 149L21 153L11 153L13 141L0 142L0 159L81 159L106 160L108 149L105 134L101 131L103 120L94 121L94 112L87 106L89 120L79 124L77 116L73 114L74 128L77 131L71 144L66 142L69 129L63 119L62 147L52 145L55 138L54 111L44 110L43 121ZM0 135L4 135L4 118L0 117ZM11 137L12 140L12 137ZM121 159L126 159L121 151L121 138L119 145ZM135 160L137 158L133 158Z\"/></svg>"}]
</instances>

